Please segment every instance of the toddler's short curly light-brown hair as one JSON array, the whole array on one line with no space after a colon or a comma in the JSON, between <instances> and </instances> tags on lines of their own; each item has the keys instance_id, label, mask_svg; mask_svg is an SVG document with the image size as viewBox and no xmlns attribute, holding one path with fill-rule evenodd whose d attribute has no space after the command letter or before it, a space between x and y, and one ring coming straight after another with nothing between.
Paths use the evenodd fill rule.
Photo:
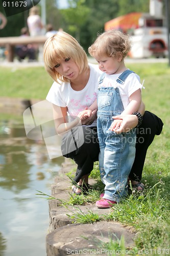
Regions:
<instances>
[{"instance_id":1,"label":"toddler's short curly light-brown hair","mask_svg":"<svg viewBox=\"0 0 170 256\"><path fill-rule=\"evenodd\" d=\"M88 48L91 56L115 56L122 53L123 59L131 49L130 36L118 30L109 30L99 35Z\"/></svg>"}]
</instances>

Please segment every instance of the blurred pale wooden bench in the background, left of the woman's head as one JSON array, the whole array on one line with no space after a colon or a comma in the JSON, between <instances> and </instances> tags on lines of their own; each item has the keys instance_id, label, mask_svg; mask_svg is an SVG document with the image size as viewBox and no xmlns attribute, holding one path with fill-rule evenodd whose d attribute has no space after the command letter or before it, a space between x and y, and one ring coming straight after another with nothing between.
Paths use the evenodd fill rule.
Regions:
<instances>
[{"instance_id":1,"label":"blurred pale wooden bench in the background, left of the woman's head","mask_svg":"<svg viewBox=\"0 0 170 256\"><path fill-rule=\"evenodd\" d=\"M15 46L28 44L44 45L46 39L47 37L45 35L0 37L0 47L3 46L6 48L8 53L7 60L12 62L14 59Z\"/></svg>"}]
</instances>

